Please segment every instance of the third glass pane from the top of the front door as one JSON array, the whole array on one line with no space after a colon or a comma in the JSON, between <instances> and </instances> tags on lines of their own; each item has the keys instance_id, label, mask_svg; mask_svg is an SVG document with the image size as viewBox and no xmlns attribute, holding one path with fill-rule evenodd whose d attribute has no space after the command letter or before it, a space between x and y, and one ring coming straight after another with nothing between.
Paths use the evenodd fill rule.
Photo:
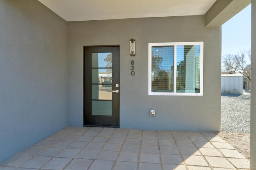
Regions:
<instances>
[{"instance_id":1,"label":"third glass pane from the top of the front door","mask_svg":"<svg viewBox=\"0 0 256 170\"><path fill-rule=\"evenodd\" d=\"M112 84L92 85L93 100L112 100Z\"/></svg>"}]
</instances>

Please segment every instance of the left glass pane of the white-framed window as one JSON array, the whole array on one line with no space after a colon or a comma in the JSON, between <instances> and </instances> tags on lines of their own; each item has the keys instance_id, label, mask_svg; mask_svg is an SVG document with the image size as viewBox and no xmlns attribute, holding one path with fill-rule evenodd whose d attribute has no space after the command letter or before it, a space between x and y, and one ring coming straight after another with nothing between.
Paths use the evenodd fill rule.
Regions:
<instances>
[{"instance_id":1,"label":"left glass pane of the white-framed window","mask_svg":"<svg viewBox=\"0 0 256 170\"><path fill-rule=\"evenodd\" d=\"M174 46L153 46L151 92L173 92Z\"/></svg>"}]
</instances>

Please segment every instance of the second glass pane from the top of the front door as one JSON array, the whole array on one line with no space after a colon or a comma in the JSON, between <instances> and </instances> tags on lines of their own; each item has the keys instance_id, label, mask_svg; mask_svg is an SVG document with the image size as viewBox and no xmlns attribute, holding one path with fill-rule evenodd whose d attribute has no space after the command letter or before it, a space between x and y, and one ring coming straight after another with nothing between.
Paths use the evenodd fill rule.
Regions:
<instances>
[{"instance_id":1,"label":"second glass pane from the top of the front door","mask_svg":"<svg viewBox=\"0 0 256 170\"><path fill-rule=\"evenodd\" d=\"M92 68L93 84L112 84L112 68Z\"/></svg>"}]
</instances>

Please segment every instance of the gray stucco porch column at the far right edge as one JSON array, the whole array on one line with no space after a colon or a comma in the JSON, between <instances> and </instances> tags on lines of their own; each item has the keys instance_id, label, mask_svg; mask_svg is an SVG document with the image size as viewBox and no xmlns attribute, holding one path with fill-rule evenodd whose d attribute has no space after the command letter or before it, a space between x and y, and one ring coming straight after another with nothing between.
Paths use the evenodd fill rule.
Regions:
<instances>
[{"instance_id":1,"label":"gray stucco porch column at the far right edge","mask_svg":"<svg viewBox=\"0 0 256 170\"><path fill-rule=\"evenodd\" d=\"M256 170L256 0L252 0L250 169Z\"/></svg>"}]
</instances>

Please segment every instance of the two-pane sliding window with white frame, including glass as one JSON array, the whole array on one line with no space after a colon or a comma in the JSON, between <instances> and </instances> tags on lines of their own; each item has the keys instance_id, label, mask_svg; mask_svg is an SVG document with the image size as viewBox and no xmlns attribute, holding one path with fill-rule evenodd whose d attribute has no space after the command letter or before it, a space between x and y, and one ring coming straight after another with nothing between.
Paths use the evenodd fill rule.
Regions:
<instances>
[{"instance_id":1,"label":"two-pane sliding window with white frame, including glass","mask_svg":"<svg viewBox=\"0 0 256 170\"><path fill-rule=\"evenodd\" d=\"M203 95L203 42L149 43L148 94Z\"/></svg>"}]
</instances>

